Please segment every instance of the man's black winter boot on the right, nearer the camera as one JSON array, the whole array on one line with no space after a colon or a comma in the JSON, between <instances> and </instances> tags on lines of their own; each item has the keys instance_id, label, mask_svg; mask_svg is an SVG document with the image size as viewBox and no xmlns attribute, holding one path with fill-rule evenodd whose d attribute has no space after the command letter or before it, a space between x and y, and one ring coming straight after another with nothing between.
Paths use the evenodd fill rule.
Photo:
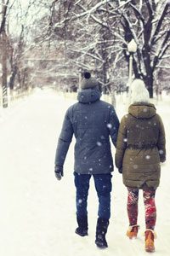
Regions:
<instances>
[{"instance_id":1,"label":"man's black winter boot on the right, nearer the camera","mask_svg":"<svg viewBox=\"0 0 170 256\"><path fill-rule=\"evenodd\" d=\"M105 218L98 218L96 227L96 240L95 244L100 249L105 249L108 247L107 241L105 240L105 235L107 233L107 228L109 225L109 220Z\"/></svg>"}]
</instances>

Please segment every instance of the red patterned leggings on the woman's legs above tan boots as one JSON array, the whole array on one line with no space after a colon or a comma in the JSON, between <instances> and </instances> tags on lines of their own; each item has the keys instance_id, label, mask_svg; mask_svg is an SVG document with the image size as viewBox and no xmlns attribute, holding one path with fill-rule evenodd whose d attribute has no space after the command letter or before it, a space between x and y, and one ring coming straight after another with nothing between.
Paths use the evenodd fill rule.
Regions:
<instances>
[{"instance_id":1,"label":"red patterned leggings on the woman's legs above tan boots","mask_svg":"<svg viewBox=\"0 0 170 256\"><path fill-rule=\"evenodd\" d=\"M129 225L137 224L139 189L127 188L127 215ZM154 230L156 225L155 189L143 189L146 229Z\"/></svg>"}]
</instances>

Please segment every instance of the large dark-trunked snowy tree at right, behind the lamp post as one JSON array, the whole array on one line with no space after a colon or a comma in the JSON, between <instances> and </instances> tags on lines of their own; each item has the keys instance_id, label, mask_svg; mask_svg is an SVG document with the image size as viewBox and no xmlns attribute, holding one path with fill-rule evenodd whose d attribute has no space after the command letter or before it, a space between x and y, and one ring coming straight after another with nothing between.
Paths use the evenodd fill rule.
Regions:
<instances>
[{"instance_id":1,"label":"large dark-trunked snowy tree at right, behind the lamp post","mask_svg":"<svg viewBox=\"0 0 170 256\"><path fill-rule=\"evenodd\" d=\"M120 5L119 5L120 6ZM169 1L127 1L116 13L120 15L122 35L126 42L132 38L138 44L133 58L135 77L144 79L153 96L154 73L162 58L169 58L170 3ZM124 49L128 61L126 45Z\"/></svg>"}]
</instances>

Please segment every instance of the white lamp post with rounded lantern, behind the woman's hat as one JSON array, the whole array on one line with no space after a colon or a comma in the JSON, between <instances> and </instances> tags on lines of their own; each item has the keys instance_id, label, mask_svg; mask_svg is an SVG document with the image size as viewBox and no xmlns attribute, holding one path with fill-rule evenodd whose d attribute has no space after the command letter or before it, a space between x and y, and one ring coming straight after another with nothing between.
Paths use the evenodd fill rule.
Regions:
<instances>
[{"instance_id":1,"label":"white lamp post with rounded lantern, behind the woman's hat","mask_svg":"<svg viewBox=\"0 0 170 256\"><path fill-rule=\"evenodd\" d=\"M129 52L129 70L128 70L128 85L129 85L129 102L131 98L131 84L132 84L132 73L133 73L133 54L137 51L137 44L132 39L128 44L127 44L127 51Z\"/></svg>"}]
</instances>

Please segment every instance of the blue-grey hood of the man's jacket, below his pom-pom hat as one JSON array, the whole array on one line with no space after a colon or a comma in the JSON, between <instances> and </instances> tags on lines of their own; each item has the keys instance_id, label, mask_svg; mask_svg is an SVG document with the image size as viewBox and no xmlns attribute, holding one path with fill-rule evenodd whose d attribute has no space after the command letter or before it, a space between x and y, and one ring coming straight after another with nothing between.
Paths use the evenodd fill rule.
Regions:
<instances>
[{"instance_id":1,"label":"blue-grey hood of the man's jacket, below his pom-pom hat","mask_svg":"<svg viewBox=\"0 0 170 256\"><path fill-rule=\"evenodd\" d=\"M86 89L81 90L78 93L77 100L81 103L90 103L90 102L96 102L99 100L101 96L101 93L98 89Z\"/></svg>"}]
</instances>

